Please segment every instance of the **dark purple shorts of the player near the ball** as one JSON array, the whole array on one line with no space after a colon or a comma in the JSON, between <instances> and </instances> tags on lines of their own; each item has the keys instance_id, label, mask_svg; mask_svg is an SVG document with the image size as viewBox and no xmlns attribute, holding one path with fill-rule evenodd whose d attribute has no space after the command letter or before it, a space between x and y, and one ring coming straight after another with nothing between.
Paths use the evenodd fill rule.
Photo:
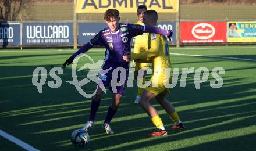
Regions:
<instances>
[{"instance_id":1,"label":"dark purple shorts of the player near the ball","mask_svg":"<svg viewBox=\"0 0 256 151\"><path fill-rule=\"evenodd\" d=\"M129 74L129 64L112 63L106 60L99 72L99 80L104 87L115 94L123 95Z\"/></svg>"}]
</instances>

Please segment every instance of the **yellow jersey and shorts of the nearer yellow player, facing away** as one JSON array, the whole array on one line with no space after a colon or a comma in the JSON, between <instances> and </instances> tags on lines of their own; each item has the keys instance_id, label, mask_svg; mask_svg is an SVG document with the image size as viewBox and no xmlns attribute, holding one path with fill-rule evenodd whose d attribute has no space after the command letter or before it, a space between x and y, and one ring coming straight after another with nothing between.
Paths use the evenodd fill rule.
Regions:
<instances>
[{"instance_id":1,"label":"yellow jersey and shorts of the nearer yellow player, facing away","mask_svg":"<svg viewBox=\"0 0 256 151\"><path fill-rule=\"evenodd\" d=\"M159 34L150 33L148 36L148 51L141 53L131 53L131 60L147 60L150 58L152 62L153 75L150 78L151 86L145 90L158 95L162 92L169 92L169 88L165 87L166 83L172 81L172 73L165 73L166 68L171 68L169 46L166 37ZM165 74L169 74L166 76Z\"/></svg>"}]
</instances>

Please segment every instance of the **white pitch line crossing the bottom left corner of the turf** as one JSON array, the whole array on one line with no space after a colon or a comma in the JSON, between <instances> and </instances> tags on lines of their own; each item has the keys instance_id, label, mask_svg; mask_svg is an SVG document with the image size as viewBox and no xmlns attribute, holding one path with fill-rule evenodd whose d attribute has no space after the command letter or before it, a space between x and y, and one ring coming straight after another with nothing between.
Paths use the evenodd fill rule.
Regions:
<instances>
[{"instance_id":1,"label":"white pitch line crossing the bottom left corner of the turf","mask_svg":"<svg viewBox=\"0 0 256 151\"><path fill-rule=\"evenodd\" d=\"M33 148L33 146L30 146L29 144L27 144L27 143L25 143L23 141L20 141L20 139L17 139L14 136L9 135L8 133L6 133L6 132L4 132L2 130L0 130L0 135L3 136L3 138L6 138L6 139L8 139L11 142L16 143L16 145L22 147L23 149L31 150L31 151L39 151L38 149Z\"/></svg>"}]
</instances>

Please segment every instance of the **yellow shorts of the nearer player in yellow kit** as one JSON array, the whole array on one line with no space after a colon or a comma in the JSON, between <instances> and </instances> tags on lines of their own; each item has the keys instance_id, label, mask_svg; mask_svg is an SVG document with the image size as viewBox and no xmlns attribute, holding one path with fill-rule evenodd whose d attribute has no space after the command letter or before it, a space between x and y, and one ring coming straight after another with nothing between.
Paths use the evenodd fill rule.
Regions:
<instances>
[{"instance_id":1,"label":"yellow shorts of the nearer player in yellow kit","mask_svg":"<svg viewBox=\"0 0 256 151\"><path fill-rule=\"evenodd\" d=\"M167 78L164 74L154 73L150 78L150 81L151 85L150 87L145 88L146 91L149 91L156 96L158 94L162 94L163 92L170 92L170 88L166 87L166 84L170 84L172 82L172 76Z\"/></svg>"}]
</instances>

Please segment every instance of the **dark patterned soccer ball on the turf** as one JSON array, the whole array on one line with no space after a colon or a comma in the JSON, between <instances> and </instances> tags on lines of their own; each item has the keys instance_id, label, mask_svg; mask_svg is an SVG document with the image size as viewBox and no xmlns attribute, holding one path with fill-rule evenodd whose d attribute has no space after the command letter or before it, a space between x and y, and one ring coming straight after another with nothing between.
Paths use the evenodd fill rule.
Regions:
<instances>
[{"instance_id":1,"label":"dark patterned soccer ball on the turf","mask_svg":"<svg viewBox=\"0 0 256 151\"><path fill-rule=\"evenodd\" d=\"M77 129L72 132L70 140L77 148L84 148L88 144L90 136L87 131Z\"/></svg>"}]
</instances>

